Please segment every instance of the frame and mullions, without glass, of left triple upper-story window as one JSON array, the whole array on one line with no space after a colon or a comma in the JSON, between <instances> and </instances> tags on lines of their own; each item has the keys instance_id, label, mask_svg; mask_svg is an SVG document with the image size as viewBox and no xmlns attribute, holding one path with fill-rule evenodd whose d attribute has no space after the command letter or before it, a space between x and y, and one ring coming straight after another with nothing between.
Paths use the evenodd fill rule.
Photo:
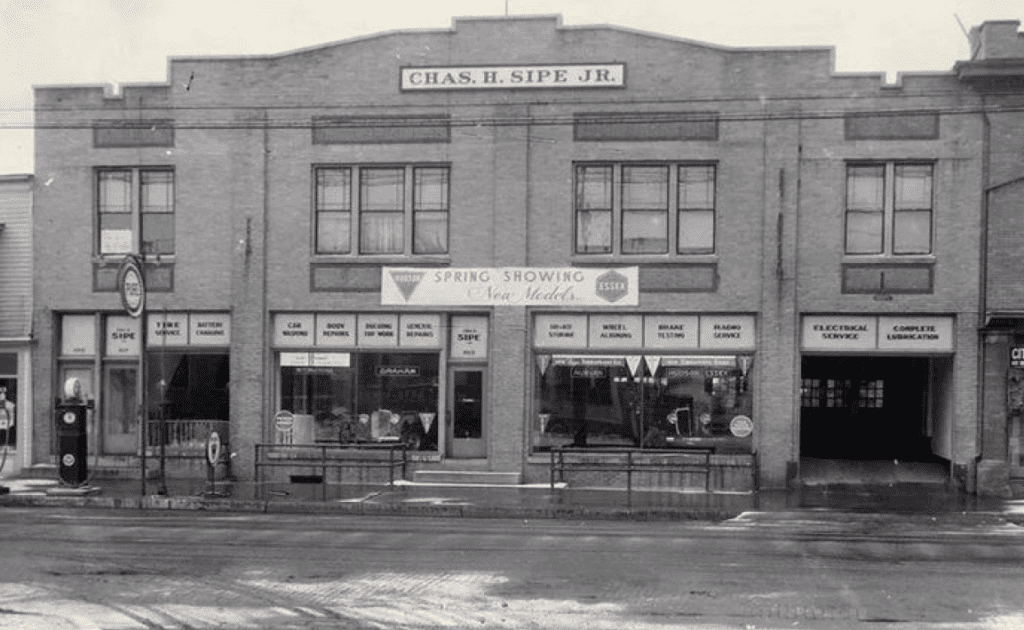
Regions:
<instances>
[{"instance_id":1,"label":"frame and mullions, without glass, of left triple upper-story window","mask_svg":"<svg viewBox=\"0 0 1024 630\"><path fill-rule=\"evenodd\" d=\"M398 214L398 210L364 210L366 207L366 186L364 173L369 171L384 171L397 169L401 172L401 251L375 252L366 251L364 243L364 215ZM440 170L443 175L443 209L418 209L418 173L430 170ZM327 171L347 171L348 173L348 210L338 210L323 207L321 203L321 178ZM317 163L313 164L310 173L310 251L317 259L366 260L381 258L436 258L451 255L452 230L452 164L449 162L410 162L410 163ZM324 251L321 247L321 216L329 213L348 214L348 249L346 251ZM417 215L421 216L417 216ZM417 251L417 218L421 221L423 214L444 214L444 229L442 235L443 251ZM425 221L424 221L425 222Z\"/></svg>"}]
</instances>

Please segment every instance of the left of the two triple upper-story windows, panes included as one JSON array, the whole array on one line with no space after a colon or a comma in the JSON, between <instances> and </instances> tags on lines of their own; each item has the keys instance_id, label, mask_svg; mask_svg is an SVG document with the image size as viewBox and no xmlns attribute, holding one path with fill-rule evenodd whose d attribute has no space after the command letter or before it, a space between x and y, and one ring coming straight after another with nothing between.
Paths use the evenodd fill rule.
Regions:
<instances>
[{"instance_id":1,"label":"left of the two triple upper-story windows, panes included","mask_svg":"<svg viewBox=\"0 0 1024 630\"><path fill-rule=\"evenodd\" d=\"M316 168L315 253L446 254L449 173L447 166Z\"/></svg>"}]
</instances>

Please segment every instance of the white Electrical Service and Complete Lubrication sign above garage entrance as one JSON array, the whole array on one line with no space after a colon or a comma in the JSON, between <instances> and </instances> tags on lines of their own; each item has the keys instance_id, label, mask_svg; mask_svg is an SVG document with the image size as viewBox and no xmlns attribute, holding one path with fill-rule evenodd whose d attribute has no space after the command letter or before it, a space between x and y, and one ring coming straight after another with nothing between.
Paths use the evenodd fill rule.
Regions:
<instances>
[{"instance_id":1,"label":"white Electrical Service and Complete Lubrication sign above garage entrance","mask_svg":"<svg viewBox=\"0 0 1024 630\"><path fill-rule=\"evenodd\" d=\"M804 350L952 352L948 316L807 316Z\"/></svg>"}]
</instances>

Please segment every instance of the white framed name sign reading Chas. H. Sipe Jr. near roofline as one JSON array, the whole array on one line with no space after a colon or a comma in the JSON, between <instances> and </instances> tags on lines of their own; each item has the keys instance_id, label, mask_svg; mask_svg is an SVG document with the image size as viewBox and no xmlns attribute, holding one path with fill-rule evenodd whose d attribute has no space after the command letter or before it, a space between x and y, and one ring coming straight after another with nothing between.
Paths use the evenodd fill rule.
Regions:
<instances>
[{"instance_id":1,"label":"white framed name sign reading Chas. H. Sipe Jr. near roofline","mask_svg":"<svg viewBox=\"0 0 1024 630\"><path fill-rule=\"evenodd\" d=\"M401 69L403 91L588 87L626 87L626 65L433 66Z\"/></svg>"}]
</instances>

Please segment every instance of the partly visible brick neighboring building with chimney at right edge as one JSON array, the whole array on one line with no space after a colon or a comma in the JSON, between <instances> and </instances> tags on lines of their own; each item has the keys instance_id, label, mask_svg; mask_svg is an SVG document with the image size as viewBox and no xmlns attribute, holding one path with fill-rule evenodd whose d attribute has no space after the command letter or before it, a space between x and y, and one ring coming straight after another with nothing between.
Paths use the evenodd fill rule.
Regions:
<instances>
[{"instance_id":1,"label":"partly visible brick neighboring building with chimney at right edge","mask_svg":"<svg viewBox=\"0 0 1024 630\"><path fill-rule=\"evenodd\" d=\"M1024 484L1024 35L1020 22L971 31L954 71L980 95L985 146L978 491Z\"/></svg>"}]
</instances>

